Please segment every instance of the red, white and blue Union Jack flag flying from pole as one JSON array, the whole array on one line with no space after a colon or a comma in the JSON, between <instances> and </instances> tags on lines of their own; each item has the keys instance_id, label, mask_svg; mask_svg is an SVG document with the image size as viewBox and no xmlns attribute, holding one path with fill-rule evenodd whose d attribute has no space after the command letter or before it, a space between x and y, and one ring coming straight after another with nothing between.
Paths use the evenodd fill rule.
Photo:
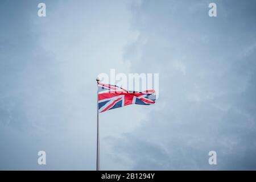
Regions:
<instances>
[{"instance_id":1,"label":"red, white and blue Union Jack flag flying from pole","mask_svg":"<svg viewBox=\"0 0 256 182\"><path fill-rule=\"evenodd\" d=\"M116 85L98 82L98 112L130 104L151 105L155 103L155 90L143 92L127 91Z\"/></svg>"}]
</instances>

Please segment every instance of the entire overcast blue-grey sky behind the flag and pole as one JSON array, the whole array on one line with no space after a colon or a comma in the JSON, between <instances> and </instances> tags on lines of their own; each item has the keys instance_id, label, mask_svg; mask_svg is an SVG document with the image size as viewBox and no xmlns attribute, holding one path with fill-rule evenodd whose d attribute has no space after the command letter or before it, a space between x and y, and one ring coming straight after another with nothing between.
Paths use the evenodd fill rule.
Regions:
<instances>
[{"instance_id":1,"label":"entire overcast blue-grey sky behind the flag and pole","mask_svg":"<svg viewBox=\"0 0 256 182\"><path fill-rule=\"evenodd\" d=\"M111 68L159 73L159 98L100 114L101 169L256 169L256 1L3 0L0 23L0 169L96 169Z\"/></svg>"}]
</instances>

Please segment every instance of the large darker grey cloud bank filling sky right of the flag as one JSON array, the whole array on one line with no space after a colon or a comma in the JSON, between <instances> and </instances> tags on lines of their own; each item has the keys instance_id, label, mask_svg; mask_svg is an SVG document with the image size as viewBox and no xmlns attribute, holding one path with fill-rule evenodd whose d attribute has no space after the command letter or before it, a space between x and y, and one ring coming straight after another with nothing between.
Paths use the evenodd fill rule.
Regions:
<instances>
[{"instance_id":1,"label":"large darker grey cloud bank filling sky right of the flag","mask_svg":"<svg viewBox=\"0 0 256 182\"><path fill-rule=\"evenodd\" d=\"M129 146L130 169L255 169L255 2L217 1L217 18L209 18L209 2L143 1L132 9L139 38L125 59L134 72L159 73L162 109L124 136L130 144L113 144ZM141 141L167 155L143 145L129 152ZM208 164L210 150L217 166ZM148 164L155 154L163 166Z\"/></svg>"}]
</instances>

